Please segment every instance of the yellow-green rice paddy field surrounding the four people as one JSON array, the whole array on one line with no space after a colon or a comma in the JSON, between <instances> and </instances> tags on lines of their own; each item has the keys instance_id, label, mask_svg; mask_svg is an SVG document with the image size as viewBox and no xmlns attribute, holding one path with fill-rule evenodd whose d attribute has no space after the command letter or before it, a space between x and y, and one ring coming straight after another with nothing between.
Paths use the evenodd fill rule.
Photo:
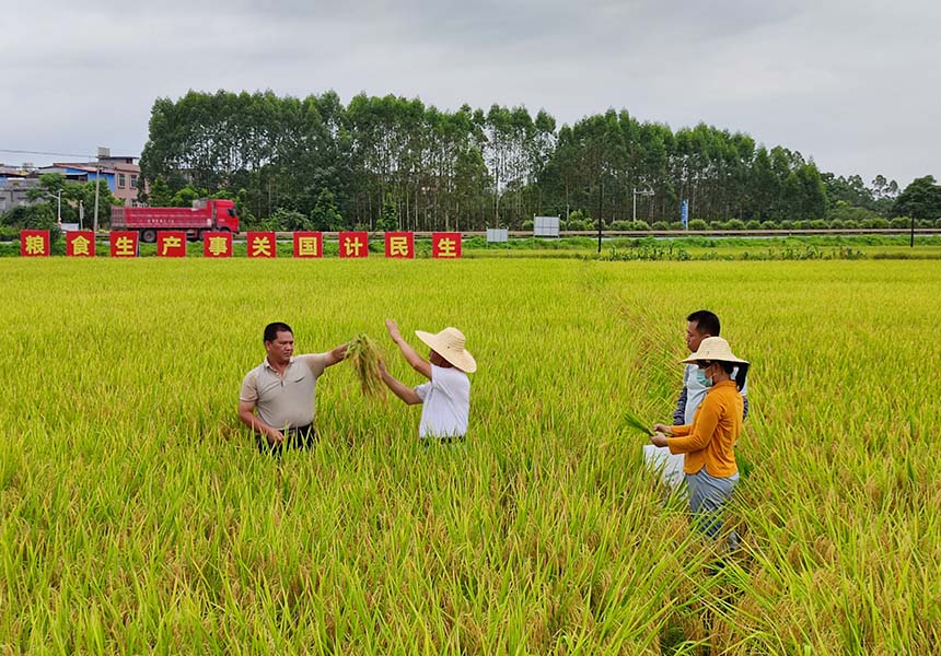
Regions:
<instances>
[{"instance_id":1,"label":"yellow-green rice paddy field surrounding the four people","mask_svg":"<svg viewBox=\"0 0 941 656\"><path fill-rule=\"evenodd\" d=\"M0 260L0 654L929 654L941 644L937 261ZM666 421L685 316L752 361L727 520ZM265 324L467 336L468 440L317 385L280 460L236 419ZM421 351L423 352L423 351ZM667 422L669 423L669 422Z\"/></svg>"}]
</instances>

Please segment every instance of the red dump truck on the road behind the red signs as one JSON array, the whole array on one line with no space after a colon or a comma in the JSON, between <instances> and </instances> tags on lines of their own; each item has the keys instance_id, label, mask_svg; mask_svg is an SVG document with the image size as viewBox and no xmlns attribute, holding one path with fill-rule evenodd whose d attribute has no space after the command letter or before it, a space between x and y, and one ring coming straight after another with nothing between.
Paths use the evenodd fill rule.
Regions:
<instances>
[{"instance_id":1,"label":"red dump truck on the road behind the red signs","mask_svg":"<svg viewBox=\"0 0 941 656\"><path fill-rule=\"evenodd\" d=\"M112 208L113 230L136 230L140 241L156 242L161 230L185 230L191 242L206 231L239 232L239 216L231 200L196 200L193 208Z\"/></svg>"}]
</instances>

